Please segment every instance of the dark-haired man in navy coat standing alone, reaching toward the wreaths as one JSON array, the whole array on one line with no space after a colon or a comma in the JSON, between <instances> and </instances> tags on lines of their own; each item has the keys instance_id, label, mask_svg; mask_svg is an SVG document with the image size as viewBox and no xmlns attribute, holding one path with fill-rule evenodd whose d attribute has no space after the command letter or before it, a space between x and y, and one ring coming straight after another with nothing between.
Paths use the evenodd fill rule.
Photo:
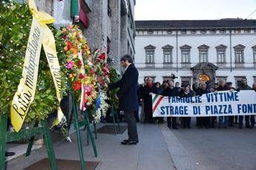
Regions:
<instances>
[{"instance_id":1,"label":"dark-haired man in navy coat standing alone, reaching toward the wreaths","mask_svg":"<svg viewBox=\"0 0 256 170\"><path fill-rule=\"evenodd\" d=\"M128 124L128 140L123 140L123 145L136 145L138 140L135 112L139 109L137 84L139 72L133 64L130 55L124 55L121 58L121 65L125 68L121 80L114 84L109 84L108 89L119 87L116 97L119 99L119 110L124 111L125 121Z\"/></svg>"}]
</instances>

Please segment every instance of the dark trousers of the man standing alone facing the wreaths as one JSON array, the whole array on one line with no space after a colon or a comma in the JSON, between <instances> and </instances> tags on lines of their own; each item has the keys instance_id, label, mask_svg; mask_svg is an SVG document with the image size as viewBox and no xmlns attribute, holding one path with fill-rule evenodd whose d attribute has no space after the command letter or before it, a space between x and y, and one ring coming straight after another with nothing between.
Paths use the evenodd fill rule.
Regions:
<instances>
[{"instance_id":1,"label":"dark trousers of the man standing alone facing the wreaths","mask_svg":"<svg viewBox=\"0 0 256 170\"><path fill-rule=\"evenodd\" d=\"M125 121L128 125L128 140L138 141L137 124L134 111L125 111Z\"/></svg>"}]
</instances>

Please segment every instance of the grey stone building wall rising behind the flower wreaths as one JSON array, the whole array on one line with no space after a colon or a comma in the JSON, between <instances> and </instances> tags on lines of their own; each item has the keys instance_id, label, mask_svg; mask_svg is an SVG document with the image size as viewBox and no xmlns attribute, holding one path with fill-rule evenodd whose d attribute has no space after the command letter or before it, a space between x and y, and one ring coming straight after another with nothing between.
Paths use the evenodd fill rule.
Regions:
<instances>
[{"instance_id":1,"label":"grey stone building wall rising behind the flower wreaths","mask_svg":"<svg viewBox=\"0 0 256 170\"><path fill-rule=\"evenodd\" d=\"M48 0L45 0L48 1ZM73 23L72 2L53 0L52 16L55 26ZM109 64L120 69L119 58L130 54L134 58L135 47L135 0L81 0L80 12L85 13L87 25L84 35L91 50L99 48L108 53ZM84 26L81 24L81 26Z\"/></svg>"}]
</instances>

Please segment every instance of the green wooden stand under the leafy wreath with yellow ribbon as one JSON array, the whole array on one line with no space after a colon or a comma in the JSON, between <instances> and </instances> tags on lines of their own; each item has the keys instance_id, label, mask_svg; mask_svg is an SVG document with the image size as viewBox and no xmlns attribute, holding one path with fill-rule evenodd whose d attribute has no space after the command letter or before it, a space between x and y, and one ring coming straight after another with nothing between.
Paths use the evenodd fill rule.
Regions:
<instances>
[{"instance_id":1,"label":"green wooden stand under the leafy wreath with yellow ribbon","mask_svg":"<svg viewBox=\"0 0 256 170\"><path fill-rule=\"evenodd\" d=\"M40 123L42 125L41 127L38 126L39 122L36 122L32 129L24 129L20 132L7 132L7 114L0 115L0 170L4 170L5 167L5 150L7 142L30 138L26 153L26 156L29 156L36 135L43 135L44 137L48 159L50 161L50 169L58 169L55 154L53 152L53 143L50 138L49 127L45 120L42 120Z\"/></svg>"}]
</instances>

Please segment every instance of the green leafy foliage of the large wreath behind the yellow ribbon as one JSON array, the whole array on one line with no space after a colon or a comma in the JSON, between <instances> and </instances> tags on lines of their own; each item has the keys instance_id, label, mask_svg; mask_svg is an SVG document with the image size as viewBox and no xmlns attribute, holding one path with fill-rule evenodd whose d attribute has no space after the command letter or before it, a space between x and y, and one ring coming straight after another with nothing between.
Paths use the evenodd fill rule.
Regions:
<instances>
[{"instance_id":1,"label":"green leafy foliage of the large wreath behind the yellow ribbon","mask_svg":"<svg viewBox=\"0 0 256 170\"><path fill-rule=\"evenodd\" d=\"M0 5L0 114L9 114L11 101L22 77L31 23L32 16L27 4L5 2ZM53 30L53 35L58 36L58 31L52 26L50 28ZM62 76L61 92L62 95L65 95L66 76L64 72L62 72ZM57 105L59 105L59 101L56 98L56 89L45 52L42 50L36 96L30 106L26 120L45 120L48 114L56 109Z\"/></svg>"}]
</instances>

